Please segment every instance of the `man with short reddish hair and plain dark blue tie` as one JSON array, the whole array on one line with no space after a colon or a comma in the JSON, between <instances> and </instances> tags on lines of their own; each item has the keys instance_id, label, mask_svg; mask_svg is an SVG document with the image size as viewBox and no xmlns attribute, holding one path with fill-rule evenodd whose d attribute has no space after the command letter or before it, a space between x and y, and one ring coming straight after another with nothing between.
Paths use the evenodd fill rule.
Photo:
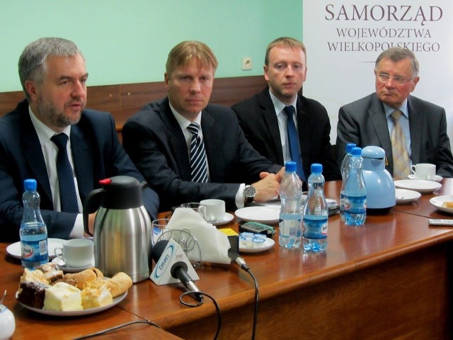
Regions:
<instances>
[{"instance_id":1,"label":"man with short reddish hair and plain dark blue tie","mask_svg":"<svg viewBox=\"0 0 453 340\"><path fill-rule=\"evenodd\" d=\"M296 147L302 157L302 179L308 179L313 163L323 164L327 181L340 179L335 152L330 142L331 123L326 108L313 99L298 94L306 77L306 49L293 38L277 38L268 45L264 77L268 81L260 94L231 108L248 142L276 164L294 160L290 148L285 106L295 108Z\"/></svg>"}]
</instances>

